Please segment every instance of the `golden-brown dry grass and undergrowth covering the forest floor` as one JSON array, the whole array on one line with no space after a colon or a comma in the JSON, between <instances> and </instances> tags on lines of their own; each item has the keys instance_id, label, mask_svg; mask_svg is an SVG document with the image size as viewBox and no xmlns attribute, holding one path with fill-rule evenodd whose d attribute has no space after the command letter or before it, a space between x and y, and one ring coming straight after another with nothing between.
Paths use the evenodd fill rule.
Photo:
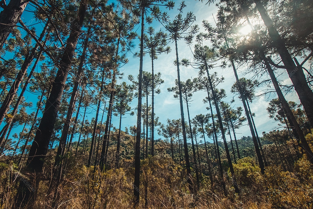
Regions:
<instances>
[{"instance_id":1,"label":"golden-brown dry grass and undergrowth covering the forest floor","mask_svg":"<svg viewBox=\"0 0 313 209\"><path fill-rule=\"evenodd\" d=\"M224 197L218 183L213 186L207 178L203 178L198 193L191 194L187 189L186 176L181 166L173 164L168 158L149 158L141 163L141 187L139 208L149 209L265 209L265 208L312 208L313 186L310 166L305 159L300 159L295 172L283 172L279 167L268 167L267 173L261 176L256 173L249 178L254 179L242 185L247 176L241 176L238 168L241 193L236 194L231 181L226 179L228 196ZM246 164L244 164L246 166ZM11 168L10 168L11 166ZM16 182L9 180L8 173L12 165L2 168L1 194L3 201L1 209L10 208L16 192ZM14 170L14 169L13 169ZM111 169L105 173L92 173L93 167L74 166L64 176L58 187L59 196L56 205L59 209L129 209L132 208L133 173L132 167ZM12 171L11 171L12 173ZM45 169L46 179L42 180L38 189L38 196L34 208L51 208L54 192L47 194L49 186L49 169ZM11 174L12 175L12 174ZM215 176L217 179L217 176ZM248 179L249 179L248 178ZM8 182L11 189L8 191ZM147 184L147 205L145 206L145 185Z\"/></svg>"}]
</instances>

